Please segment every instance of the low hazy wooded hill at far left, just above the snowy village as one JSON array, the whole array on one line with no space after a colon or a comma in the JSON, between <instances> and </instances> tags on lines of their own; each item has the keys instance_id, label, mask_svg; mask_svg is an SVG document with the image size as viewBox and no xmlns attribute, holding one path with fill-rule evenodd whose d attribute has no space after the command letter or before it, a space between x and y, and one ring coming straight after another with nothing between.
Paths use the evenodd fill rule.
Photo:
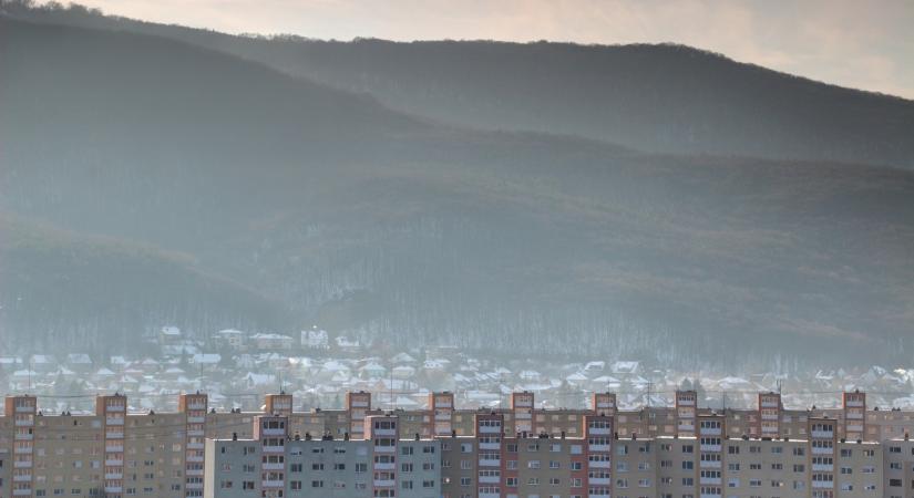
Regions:
<instances>
[{"instance_id":1,"label":"low hazy wooded hill at far left, just above the snowy village","mask_svg":"<svg viewBox=\"0 0 914 498\"><path fill-rule=\"evenodd\" d=\"M284 308L187 255L0 216L6 351L119 354L156 324L287 326Z\"/></svg>"}]
</instances>

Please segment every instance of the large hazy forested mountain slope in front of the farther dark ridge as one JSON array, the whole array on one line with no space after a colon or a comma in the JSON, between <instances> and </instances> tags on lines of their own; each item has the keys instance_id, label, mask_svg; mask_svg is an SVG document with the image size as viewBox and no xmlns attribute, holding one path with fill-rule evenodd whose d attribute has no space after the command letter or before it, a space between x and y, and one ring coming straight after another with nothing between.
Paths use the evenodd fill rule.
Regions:
<instances>
[{"instance_id":1,"label":"large hazy forested mountain slope in front of the farther dark ridge","mask_svg":"<svg viewBox=\"0 0 914 498\"><path fill-rule=\"evenodd\" d=\"M85 307L57 333L112 343L244 318L680 364L912 346L910 170L461 128L174 39L9 17L0 61L0 212L145 248L6 257L4 309L28 279L92 282L0 314L16 344L47 335L47 301Z\"/></svg>"}]
</instances>

